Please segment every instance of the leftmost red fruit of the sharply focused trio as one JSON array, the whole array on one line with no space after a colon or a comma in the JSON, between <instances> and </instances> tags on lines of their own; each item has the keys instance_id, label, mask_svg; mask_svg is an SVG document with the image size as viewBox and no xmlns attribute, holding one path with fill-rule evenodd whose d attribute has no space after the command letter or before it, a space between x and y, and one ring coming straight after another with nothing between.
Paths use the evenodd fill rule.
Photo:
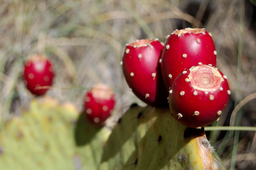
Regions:
<instances>
[{"instance_id":1,"label":"leftmost red fruit of the sharply focused trio","mask_svg":"<svg viewBox=\"0 0 256 170\"><path fill-rule=\"evenodd\" d=\"M161 73L163 43L158 39L136 40L126 44L122 67L132 92L153 107L168 106Z\"/></svg>"}]
</instances>

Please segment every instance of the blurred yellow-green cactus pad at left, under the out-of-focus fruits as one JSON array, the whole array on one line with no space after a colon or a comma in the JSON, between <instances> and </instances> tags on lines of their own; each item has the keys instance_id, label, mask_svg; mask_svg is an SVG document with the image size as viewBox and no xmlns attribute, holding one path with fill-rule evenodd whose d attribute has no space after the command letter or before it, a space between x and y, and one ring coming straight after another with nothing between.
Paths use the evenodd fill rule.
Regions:
<instances>
[{"instance_id":1,"label":"blurred yellow-green cactus pad at left, under the out-of-focus fruits","mask_svg":"<svg viewBox=\"0 0 256 170\"><path fill-rule=\"evenodd\" d=\"M30 111L0 126L1 169L96 170L109 132L71 104L34 100Z\"/></svg>"}]
</instances>

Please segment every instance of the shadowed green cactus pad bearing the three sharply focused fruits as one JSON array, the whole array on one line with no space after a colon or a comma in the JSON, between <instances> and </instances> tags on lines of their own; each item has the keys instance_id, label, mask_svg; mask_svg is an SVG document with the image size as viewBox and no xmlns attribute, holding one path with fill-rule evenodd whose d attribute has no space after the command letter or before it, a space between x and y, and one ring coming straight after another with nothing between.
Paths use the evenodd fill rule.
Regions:
<instances>
[{"instance_id":1,"label":"shadowed green cactus pad bearing the three sharply focused fruits","mask_svg":"<svg viewBox=\"0 0 256 170\"><path fill-rule=\"evenodd\" d=\"M204 129L178 123L170 109L133 106L104 146L100 170L214 169Z\"/></svg>"}]
</instances>

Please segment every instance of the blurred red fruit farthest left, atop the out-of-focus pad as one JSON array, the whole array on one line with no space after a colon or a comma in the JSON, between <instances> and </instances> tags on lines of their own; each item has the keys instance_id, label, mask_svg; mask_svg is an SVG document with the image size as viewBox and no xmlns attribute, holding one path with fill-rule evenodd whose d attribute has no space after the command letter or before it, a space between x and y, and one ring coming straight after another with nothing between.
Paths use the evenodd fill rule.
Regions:
<instances>
[{"instance_id":1,"label":"blurred red fruit farthest left, atop the out-of-focus pad","mask_svg":"<svg viewBox=\"0 0 256 170\"><path fill-rule=\"evenodd\" d=\"M51 86L54 70L51 61L43 55L33 55L24 63L23 78L28 90L34 95L44 95L47 89L38 87Z\"/></svg>"}]
</instances>

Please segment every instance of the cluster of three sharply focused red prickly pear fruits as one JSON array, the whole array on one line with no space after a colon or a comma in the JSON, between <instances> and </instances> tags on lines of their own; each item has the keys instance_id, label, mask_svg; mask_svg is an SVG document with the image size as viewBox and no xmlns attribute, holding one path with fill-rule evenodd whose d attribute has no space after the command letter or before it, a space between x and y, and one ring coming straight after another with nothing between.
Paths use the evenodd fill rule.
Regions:
<instances>
[{"instance_id":1,"label":"cluster of three sharply focused red prickly pear fruits","mask_svg":"<svg viewBox=\"0 0 256 170\"><path fill-rule=\"evenodd\" d=\"M212 35L204 28L175 30L166 37L127 44L121 61L133 93L153 107L169 103L176 120L191 128L218 121L230 90L216 68Z\"/></svg>"}]
</instances>

